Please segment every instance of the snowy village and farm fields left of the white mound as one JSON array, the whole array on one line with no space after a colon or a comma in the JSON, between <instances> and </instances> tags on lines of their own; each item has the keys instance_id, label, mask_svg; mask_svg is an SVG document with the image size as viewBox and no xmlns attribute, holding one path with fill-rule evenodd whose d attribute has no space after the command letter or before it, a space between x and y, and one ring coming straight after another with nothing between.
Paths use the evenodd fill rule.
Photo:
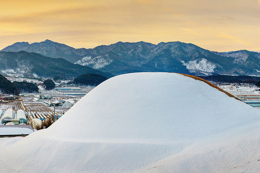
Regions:
<instances>
[{"instance_id":1,"label":"snowy village and farm fields left of the white mound","mask_svg":"<svg viewBox=\"0 0 260 173\"><path fill-rule=\"evenodd\" d=\"M41 90L39 93L22 93L18 97L8 94L0 95L0 126L22 129L21 132L13 134L8 131L0 137L29 135L48 118L51 118L53 123L93 88L67 86ZM31 130L28 131L28 129Z\"/></svg>"}]
</instances>

